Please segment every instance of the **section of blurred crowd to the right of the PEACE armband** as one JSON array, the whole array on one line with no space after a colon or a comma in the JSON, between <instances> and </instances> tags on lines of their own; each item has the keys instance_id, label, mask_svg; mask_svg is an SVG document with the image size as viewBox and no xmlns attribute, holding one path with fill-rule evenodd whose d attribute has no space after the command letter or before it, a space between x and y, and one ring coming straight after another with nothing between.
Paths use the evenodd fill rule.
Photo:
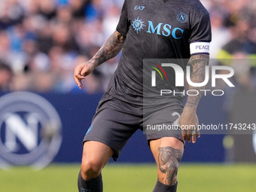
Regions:
<instances>
[{"instance_id":1,"label":"section of blurred crowd to the right of the PEACE armband","mask_svg":"<svg viewBox=\"0 0 256 192\"><path fill-rule=\"evenodd\" d=\"M236 88L256 88L256 2L202 0L212 22L212 65L231 66ZM223 71L221 73L227 73ZM222 86L227 86L222 81ZM236 89L237 90L237 89Z\"/></svg>"}]
</instances>

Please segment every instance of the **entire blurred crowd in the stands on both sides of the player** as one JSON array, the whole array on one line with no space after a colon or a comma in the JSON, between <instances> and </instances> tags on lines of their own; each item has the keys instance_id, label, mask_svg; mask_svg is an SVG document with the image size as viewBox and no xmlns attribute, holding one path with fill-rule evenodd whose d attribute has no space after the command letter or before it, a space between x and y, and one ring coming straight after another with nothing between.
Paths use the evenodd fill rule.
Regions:
<instances>
[{"instance_id":1,"label":"entire blurred crowd in the stands on both sides of the player","mask_svg":"<svg viewBox=\"0 0 256 192\"><path fill-rule=\"evenodd\" d=\"M256 1L201 0L212 21L212 62L230 65L237 84L256 87ZM97 93L106 89L118 57L99 66L78 90L75 66L114 32L123 0L0 0L0 91Z\"/></svg>"}]
</instances>

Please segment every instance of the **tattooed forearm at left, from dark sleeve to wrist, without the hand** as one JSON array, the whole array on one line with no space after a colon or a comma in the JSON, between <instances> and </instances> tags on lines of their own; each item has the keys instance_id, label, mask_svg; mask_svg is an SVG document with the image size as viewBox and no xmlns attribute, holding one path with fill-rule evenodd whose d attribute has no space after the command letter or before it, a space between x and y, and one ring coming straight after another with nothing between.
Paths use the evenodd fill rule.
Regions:
<instances>
[{"instance_id":1,"label":"tattooed forearm at left, from dark sleeve to wrist, without the hand","mask_svg":"<svg viewBox=\"0 0 256 192\"><path fill-rule=\"evenodd\" d=\"M123 42L125 41L125 36L120 34L120 32L115 31L110 37L105 41L99 51L90 59L94 66L99 66L108 59L113 58L120 52L123 48Z\"/></svg>"}]
</instances>

